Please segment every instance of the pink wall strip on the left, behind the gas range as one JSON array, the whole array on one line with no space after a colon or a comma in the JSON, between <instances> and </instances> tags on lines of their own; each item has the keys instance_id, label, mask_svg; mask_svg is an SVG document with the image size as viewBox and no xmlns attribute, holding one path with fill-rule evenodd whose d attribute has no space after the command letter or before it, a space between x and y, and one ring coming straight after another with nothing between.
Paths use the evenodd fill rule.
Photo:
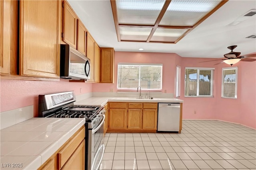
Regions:
<instances>
[{"instance_id":1,"label":"pink wall strip on the left, behind the gas range","mask_svg":"<svg viewBox=\"0 0 256 170\"><path fill-rule=\"evenodd\" d=\"M8 111L20 107L34 105L34 117L38 114L38 95L63 91L74 91L76 95L92 92L92 83L26 80L0 80L0 111ZM80 88L82 91L80 93Z\"/></svg>"}]
</instances>

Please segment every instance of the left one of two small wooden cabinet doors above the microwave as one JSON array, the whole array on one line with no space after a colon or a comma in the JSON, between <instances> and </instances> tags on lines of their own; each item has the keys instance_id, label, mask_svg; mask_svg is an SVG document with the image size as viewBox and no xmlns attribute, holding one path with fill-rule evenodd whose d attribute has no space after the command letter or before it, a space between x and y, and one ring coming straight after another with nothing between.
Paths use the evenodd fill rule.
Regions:
<instances>
[{"instance_id":1,"label":"left one of two small wooden cabinet doors above the microwave","mask_svg":"<svg viewBox=\"0 0 256 170\"><path fill-rule=\"evenodd\" d=\"M68 2L63 2L63 41L76 49L76 13L72 10ZM42 15L44 16L44 15Z\"/></svg>"}]
</instances>

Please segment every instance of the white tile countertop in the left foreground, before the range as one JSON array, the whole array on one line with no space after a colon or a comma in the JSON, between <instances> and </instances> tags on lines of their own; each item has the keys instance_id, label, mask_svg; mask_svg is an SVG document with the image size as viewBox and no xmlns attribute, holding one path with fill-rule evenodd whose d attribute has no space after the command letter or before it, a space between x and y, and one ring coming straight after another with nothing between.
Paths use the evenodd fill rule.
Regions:
<instances>
[{"instance_id":1,"label":"white tile countertop in the left foreground, before the range","mask_svg":"<svg viewBox=\"0 0 256 170\"><path fill-rule=\"evenodd\" d=\"M0 169L39 168L84 124L84 118L34 117L2 129Z\"/></svg>"}]
</instances>

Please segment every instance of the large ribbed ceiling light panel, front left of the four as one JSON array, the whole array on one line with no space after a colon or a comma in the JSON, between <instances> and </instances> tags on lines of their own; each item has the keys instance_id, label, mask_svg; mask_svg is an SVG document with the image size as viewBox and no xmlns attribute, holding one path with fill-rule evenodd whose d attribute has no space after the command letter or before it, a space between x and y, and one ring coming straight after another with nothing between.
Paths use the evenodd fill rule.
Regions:
<instances>
[{"instance_id":1,"label":"large ribbed ceiling light panel, front left of the four","mask_svg":"<svg viewBox=\"0 0 256 170\"><path fill-rule=\"evenodd\" d=\"M154 24L165 0L118 0L118 22L130 24Z\"/></svg>"}]
</instances>

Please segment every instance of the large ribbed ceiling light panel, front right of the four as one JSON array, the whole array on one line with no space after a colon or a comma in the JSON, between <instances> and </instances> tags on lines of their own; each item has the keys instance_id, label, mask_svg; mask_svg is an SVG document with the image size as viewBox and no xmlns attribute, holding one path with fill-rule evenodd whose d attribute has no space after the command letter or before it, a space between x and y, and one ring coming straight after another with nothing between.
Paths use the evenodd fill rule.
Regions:
<instances>
[{"instance_id":1,"label":"large ribbed ceiling light panel, front right of the four","mask_svg":"<svg viewBox=\"0 0 256 170\"><path fill-rule=\"evenodd\" d=\"M160 25L193 26L221 0L172 0Z\"/></svg>"}]
</instances>

